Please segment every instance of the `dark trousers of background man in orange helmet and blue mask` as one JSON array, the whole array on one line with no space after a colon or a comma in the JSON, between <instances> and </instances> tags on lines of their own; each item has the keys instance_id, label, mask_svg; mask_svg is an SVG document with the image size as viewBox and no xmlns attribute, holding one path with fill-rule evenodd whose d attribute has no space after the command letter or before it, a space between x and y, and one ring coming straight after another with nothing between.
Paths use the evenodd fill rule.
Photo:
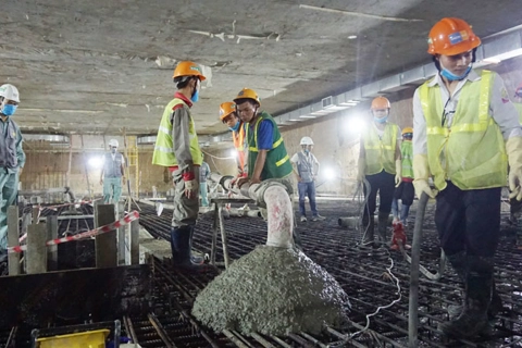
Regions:
<instances>
[{"instance_id":1,"label":"dark trousers of background man in orange helmet and blue mask","mask_svg":"<svg viewBox=\"0 0 522 348\"><path fill-rule=\"evenodd\" d=\"M395 192L395 174L382 171L378 174L366 175L366 181L370 183L371 190L368 192L366 186L364 185L364 197L368 197L368 203L366 207L364 207L363 216L373 216L375 213L377 191L380 198L378 212L389 214Z\"/></svg>"}]
</instances>

